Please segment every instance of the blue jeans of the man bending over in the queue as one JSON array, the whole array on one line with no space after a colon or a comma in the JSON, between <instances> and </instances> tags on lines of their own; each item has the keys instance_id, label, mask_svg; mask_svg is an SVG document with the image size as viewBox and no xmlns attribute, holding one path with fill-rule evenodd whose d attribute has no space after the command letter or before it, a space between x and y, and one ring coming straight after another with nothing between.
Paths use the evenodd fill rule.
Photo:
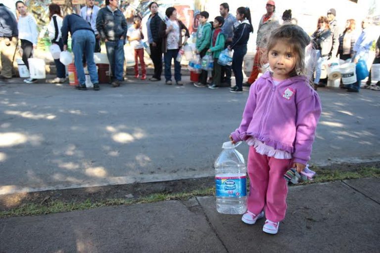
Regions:
<instances>
[{"instance_id":1,"label":"blue jeans of the man bending over in the queue","mask_svg":"<svg viewBox=\"0 0 380 253\"><path fill-rule=\"evenodd\" d=\"M91 83L98 84L96 65L94 62L95 35L90 30L77 30L71 36L74 52L74 64L77 70L80 85L86 84L85 71L83 69L83 54L87 61L87 69L90 74Z\"/></svg>"}]
</instances>

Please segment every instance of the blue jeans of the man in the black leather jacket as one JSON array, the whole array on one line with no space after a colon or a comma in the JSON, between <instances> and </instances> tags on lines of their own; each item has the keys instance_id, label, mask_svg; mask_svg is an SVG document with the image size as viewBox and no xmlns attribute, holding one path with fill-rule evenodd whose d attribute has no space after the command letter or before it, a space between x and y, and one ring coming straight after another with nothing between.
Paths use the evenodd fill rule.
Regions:
<instances>
[{"instance_id":1,"label":"blue jeans of the man in the black leather jacket","mask_svg":"<svg viewBox=\"0 0 380 253\"><path fill-rule=\"evenodd\" d=\"M124 40L105 42L105 49L111 65L112 76L118 81L123 81Z\"/></svg>"}]
</instances>

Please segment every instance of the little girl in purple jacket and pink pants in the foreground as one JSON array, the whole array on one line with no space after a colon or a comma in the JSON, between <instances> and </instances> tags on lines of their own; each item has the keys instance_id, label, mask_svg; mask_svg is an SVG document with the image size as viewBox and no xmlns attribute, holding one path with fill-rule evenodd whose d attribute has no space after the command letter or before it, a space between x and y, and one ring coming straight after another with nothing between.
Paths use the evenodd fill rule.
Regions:
<instances>
[{"instance_id":1,"label":"little girl in purple jacket and pink pants in the foreground","mask_svg":"<svg viewBox=\"0 0 380 253\"><path fill-rule=\"evenodd\" d=\"M248 211L242 221L254 224L265 211L263 231L269 234L277 233L285 217L283 176L289 168L305 168L321 114L318 94L304 76L309 43L309 36L296 25L272 32L266 48L272 71L251 85L240 126L230 136L233 143L245 140L250 146Z\"/></svg>"}]
</instances>

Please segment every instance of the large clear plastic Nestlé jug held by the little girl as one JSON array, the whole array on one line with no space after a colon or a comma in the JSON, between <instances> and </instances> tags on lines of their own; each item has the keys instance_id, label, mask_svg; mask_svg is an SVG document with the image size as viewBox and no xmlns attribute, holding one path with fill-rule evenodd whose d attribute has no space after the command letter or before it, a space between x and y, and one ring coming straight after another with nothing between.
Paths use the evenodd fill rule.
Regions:
<instances>
[{"instance_id":1,"label":"large clear plastic Nestl\u00e9 jug held by the little girl","mask_svg":"<svg viewBox=\"0 0 380 253\"><path fill-rule=\"evenodd\" d=\"M223 143L223 151L215 161L216 210L225 214L247 211L246 175L243 156L231 141Z\"/></svg>"}]
</instances>

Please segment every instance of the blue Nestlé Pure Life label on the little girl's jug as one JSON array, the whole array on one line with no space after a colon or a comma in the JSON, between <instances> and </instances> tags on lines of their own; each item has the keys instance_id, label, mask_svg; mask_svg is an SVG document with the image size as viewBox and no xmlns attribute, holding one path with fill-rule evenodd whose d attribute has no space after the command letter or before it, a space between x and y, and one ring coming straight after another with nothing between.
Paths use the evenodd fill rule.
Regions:
<instances>
[{"instance_id":1,"label":"blue Nestl\u00e9 Pure Life label on the little girl's jug","mask_svg":"<svg viewBox=\"0 0 380 253\"><path fill-rule=\"evenodd\" d=\"M244 197L247 195L246 176L215 177L216 197Z\"/></svg>"}]
</instances>

